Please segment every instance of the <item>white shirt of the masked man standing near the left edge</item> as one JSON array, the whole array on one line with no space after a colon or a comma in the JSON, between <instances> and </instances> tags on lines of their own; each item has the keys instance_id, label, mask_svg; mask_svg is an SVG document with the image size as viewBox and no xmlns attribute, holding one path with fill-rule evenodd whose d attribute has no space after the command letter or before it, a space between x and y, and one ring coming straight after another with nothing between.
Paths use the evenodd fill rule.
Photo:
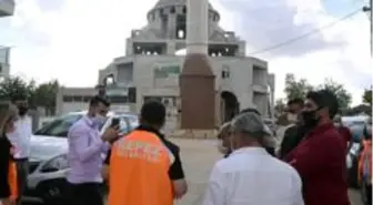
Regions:
<instances>
[{"instance_id":1,"label":"white shirt of the masked man standing near the left edge","mask_svg":"<svg viewBox=\"0 0 373 205\"><path fill-rule=\"evenodd\" d=\"M14 158L28 158L30 156L30 140L32 135L32 120L24 115L14 122L16 130L7 136L14 146Z\"/></svg>"}]
</instances>

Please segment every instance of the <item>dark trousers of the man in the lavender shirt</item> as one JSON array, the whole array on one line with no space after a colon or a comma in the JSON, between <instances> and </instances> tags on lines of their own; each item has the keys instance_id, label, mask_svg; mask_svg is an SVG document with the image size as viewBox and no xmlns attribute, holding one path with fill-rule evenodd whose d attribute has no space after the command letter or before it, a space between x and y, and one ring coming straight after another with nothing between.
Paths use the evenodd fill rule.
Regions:
<instances>
[{"instance_id":1,"label":"dark trousers of the man in the lavender shirt","mask_svg":"<svg viewBox=\"0 0 373 205\"><path fill-rule=\"evenodd\" d=\"M71 205L103 205L99 183L69 184Z\"/></svg>"}]
</instances>

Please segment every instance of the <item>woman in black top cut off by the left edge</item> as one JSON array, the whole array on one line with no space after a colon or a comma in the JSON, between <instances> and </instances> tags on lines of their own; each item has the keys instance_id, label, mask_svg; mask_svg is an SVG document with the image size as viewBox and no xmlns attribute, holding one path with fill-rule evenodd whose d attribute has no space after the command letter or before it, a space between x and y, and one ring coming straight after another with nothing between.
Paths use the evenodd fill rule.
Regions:
<instances>
[{"instance_id":1,"label":"woman in black top cut off by the left edge","mask_svg":"<svg viewBox=\"0 0 373 205\"><path fill-rule=\"evenodd\" d=\"M0 104L0 204L12 205L17 198L17 168L12 161L12 145L7 134L14 131L17 110Z\"/></svg>"}]
</instances>

